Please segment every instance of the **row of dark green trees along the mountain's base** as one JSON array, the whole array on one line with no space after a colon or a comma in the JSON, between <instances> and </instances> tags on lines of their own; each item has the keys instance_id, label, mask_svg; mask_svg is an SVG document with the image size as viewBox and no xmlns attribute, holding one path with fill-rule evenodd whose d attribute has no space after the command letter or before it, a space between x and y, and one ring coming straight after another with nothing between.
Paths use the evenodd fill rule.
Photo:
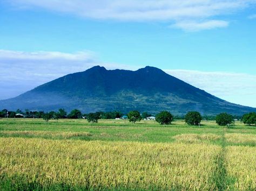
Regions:
<instances>
[{"instance_id":1,"label":"row of dark green trees along the mountain's base","mask_svg":"<svg viewBox=\"0 0 256 191\"><path fill-rule=\"evenodd\" d=\"M82 114L82 112L78 109L73 109L68 114L64 109L59 109L58 111L29 111L25 110L24 112L20 109L17 111L8 111L3 109L0 111L0 117L8 117L8 118L19 118L19 117L26 117L26 118L43 118L45 122L48 122L50 119L59 118L70 118L70 119L78 119L78 118L86 118L88 122L97 123L98 119L115 119L121 118L124 114L120 111L110 111L110 112L91 112L89 114ZM127 119L130 122L136 123L141 121L144 118L151 117L152 115L143 112L140 114L139 111L130 111L127 114ZM242 117L239 116L232 116L223 112L218 114L217 116L201 116L201 114L197 111L189 111L185 116L173 116L169 111L161 111L156 115L156 121L161 125L171 124L173 119L185 119L185 123L188 125L200 125L203 119L205 120L215 120L218 125L233 125L234 120L240 120L244 124L247 125L256 125L256 113L250 112L248 114L243 115Z\"/></svg>"}]
</instances>

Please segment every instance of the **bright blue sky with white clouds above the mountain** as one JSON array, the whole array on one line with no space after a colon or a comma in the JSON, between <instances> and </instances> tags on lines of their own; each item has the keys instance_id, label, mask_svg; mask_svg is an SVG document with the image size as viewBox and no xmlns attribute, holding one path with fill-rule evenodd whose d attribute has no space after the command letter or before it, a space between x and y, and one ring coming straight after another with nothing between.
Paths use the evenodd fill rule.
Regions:
<instances>
[{"instance_id":1,"label":"bright blue sky with white clouds above the mountain","mask_svg":"<svg viewBox=\"0 0 256 191\"><path fill-rule=\"evenodd\" d=\"M256 1L4 0L0 99L94 65L154 66L256 107Z\"/></svg>"}]
</instances>

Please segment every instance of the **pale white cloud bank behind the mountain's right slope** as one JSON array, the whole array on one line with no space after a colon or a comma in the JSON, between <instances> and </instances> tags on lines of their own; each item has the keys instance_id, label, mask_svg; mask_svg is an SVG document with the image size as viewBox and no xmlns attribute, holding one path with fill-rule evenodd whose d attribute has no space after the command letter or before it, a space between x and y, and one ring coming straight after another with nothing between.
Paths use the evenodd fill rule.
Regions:
<instances>
[{"instance_id":1,"label":"pale white cloud bank behind the mountain's right slope","mask_svg":"<svg viewBox=\"0 0 256 191\"><path fill-rule=\"evenodd\" d=\"M196 70L164 71L229 102L256 107L256 75Z\"/></svg>"}]
</instances>

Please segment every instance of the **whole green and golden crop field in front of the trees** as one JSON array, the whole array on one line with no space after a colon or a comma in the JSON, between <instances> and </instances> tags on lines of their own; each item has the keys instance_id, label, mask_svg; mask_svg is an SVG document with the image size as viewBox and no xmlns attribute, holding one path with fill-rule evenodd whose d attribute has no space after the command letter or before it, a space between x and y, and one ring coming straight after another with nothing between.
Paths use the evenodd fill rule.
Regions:
<instances>
[{"instance_id":1,"label":"whole green and golden crop field in front of the trees","mask_svg":"<svg viewBox=\"0 0 256 191\"><path fill-rule=\"evenodd\" d=\"M256 190L256 127L0 119L2 190Z\"/></svg>"}]
</instances>

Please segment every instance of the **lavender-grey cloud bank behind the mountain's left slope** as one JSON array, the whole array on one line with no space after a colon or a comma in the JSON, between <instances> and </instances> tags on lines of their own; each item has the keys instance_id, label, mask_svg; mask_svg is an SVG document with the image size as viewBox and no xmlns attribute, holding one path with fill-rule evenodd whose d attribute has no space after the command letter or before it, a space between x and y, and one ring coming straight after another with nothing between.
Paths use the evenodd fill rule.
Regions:
<instances>
[{"instance_id":1,"label":"lavender-grey cloud bank behind the mountain's left slope","mask_svg":"<svg viewBox=\"0 0 256 191\"><path fill-rule=\"evenodd\" d=\"M89 51L70 54L0 50L0 100L15 97L58 77L82 72L96 65L107 69L131 68L115 63L101 63Z\"/></svg>"}]
</instances>

